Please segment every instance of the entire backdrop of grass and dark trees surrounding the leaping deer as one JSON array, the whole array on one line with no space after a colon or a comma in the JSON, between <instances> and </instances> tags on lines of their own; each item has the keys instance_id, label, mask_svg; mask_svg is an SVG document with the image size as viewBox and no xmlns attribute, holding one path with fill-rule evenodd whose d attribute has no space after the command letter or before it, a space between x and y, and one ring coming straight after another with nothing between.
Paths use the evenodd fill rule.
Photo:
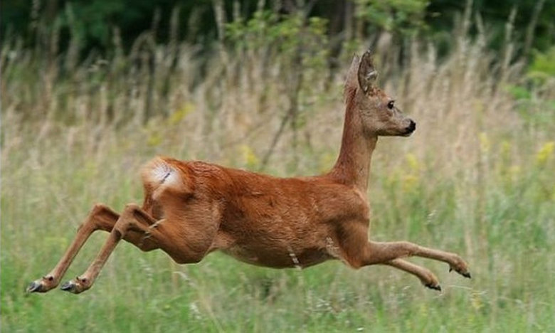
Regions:
<instances>
[{"instance_id":1,"label":"entire backdrop of grass and dark trees surrounding the leaping deer","mask_svg":"<svg viewBox=\"0 0 555 333\"><path fill-rule=\"evenodd\" d=\"M127 2L2 1L2 330L555 330L552 2ZM270 270L218 253L176 265L122 243L83 295L23 292L94 202L142 199L154 154L327 171L344 74L369 47L418 122L409 139L380 139L371 237L458 252L472 280L413 259L438 293L391 268Z\"/></svg>"}]
</instances>

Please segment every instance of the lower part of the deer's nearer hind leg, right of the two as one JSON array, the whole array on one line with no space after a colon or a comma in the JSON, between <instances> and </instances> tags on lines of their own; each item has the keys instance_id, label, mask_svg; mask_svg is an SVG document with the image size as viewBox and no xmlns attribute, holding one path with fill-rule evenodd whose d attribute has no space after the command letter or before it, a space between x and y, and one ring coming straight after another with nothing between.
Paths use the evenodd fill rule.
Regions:
<instances>
[{"instance_id":1,"label":"lower part of the deer's nearer hind leg, right of the two","mask_svg":"<svg viewBox=\"0 0 555 333\"><path fill-rule=\"evenodd\" d=\"M98 253L93 263L90 264L89 268L75 279L65 282L61 289L73 292L74 294L79 294L84 292L93 286L96 277L105 265L106 260L115 249L117 243L120 242L122 238L125 238L130 232L139 232L144 235L149 231L149 226L153 223L154 218L149 216L147 213L142 211L142 209L134 203L125 206L124 211L120 218L110 232L110 236L106 240L106 243L102 246L100 253ZM137 244L136 244L137 245ZM139 246L140 247L140 246Z\"/></svg>"}]
</instances>

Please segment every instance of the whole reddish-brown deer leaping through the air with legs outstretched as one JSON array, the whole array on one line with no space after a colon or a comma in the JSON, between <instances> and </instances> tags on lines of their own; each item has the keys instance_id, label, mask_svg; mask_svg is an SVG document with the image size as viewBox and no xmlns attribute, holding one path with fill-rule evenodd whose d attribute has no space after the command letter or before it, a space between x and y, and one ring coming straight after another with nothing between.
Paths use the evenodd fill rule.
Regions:
<instances>
[{"instance_id":1,"label":"whole reddish-brown deer leaping through the air with legs outstretched","mask_svg":"<svg viewBox=\"0 0 555 333\"><path fill-rule=\"evenodd\" d=\"M427 268L406 260L440 260L470 278L455 253L408 241L369 239L367 189L371 156L380 136L408 137L416 123L376 85L371 53L354 55L344 85L345 117L339 157L319 176L279 178L200 161L155 157L141 170L142 206L122 213L97 203L58 264L28 292L57 287L80 248L95 231L109 236L88 269L60 289L90 289L120 240L142 251L159 249L179 264L199 263L208 253L268 268L307 268L341 260L354 269L388 265L441 290Z\"/></svg>"}]
</instances>

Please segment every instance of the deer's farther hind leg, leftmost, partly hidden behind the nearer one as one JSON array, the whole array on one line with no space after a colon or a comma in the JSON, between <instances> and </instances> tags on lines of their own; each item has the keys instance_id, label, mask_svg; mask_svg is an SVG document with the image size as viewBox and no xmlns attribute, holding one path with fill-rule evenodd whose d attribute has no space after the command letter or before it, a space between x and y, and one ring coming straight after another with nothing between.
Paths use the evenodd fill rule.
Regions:
<instances>
[{"instance_id":1,"label":"deer's farther hind leg, leftmost, partly hidden behind the nearer one","mask_svg":"<svg viewBox=\"0 0 555 333\"><path fill-rule=\"evenodd\" d=\"M95 204L87 218L85 218L83 224L80 225L73 243L71 243L68 250L65 251L63 257L58 261L58 264L50 273L43 276L41 279L31 282L31 285L27 287L27 292L48 292L57 287L61 278L73 262L75 255L77 255L90 235L99 230L107 232L112 231L118 218L120 218L120 214L116 213L111 208L101 203ZM142 233L134 231L129 232L125 235L124 239L142 250L153 250L157 248L154 242L143 241Z\"/></svg>"}]
</instances>

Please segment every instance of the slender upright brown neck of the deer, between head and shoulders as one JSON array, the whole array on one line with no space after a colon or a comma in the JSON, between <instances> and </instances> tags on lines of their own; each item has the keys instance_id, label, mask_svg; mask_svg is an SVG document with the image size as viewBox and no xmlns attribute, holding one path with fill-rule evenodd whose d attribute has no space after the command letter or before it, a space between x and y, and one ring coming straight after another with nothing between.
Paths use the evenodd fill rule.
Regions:
<instances>
[{"instance_id":1,"label":"slender upright brown neck of the deer, between head and shoulders","mask_svg":"<svg viewBox=\"0 0 555 333\"><path fill-rule=\"evenodd\" d=\"M337 181L356 186L366 194L372 152L378 142L378 136L364 132L360 112L354 106L353 100L348 103L345 111L341 149L330 174Z\"/></svg>"}]
</instances>

